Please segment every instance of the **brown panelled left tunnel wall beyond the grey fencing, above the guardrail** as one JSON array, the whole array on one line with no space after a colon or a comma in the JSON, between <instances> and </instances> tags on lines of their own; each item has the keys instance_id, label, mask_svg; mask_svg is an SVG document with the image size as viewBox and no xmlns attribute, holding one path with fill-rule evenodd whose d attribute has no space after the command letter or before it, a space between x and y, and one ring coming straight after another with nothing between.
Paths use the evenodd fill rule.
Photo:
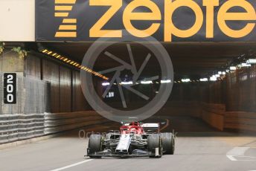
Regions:
<instances>
[{"instance_id":1,"label":"brown panelled left tunnel wall beyond the grey fencing, above the guardrail","mask_svg":"<svg viewBox=\"0 0 256 171\"><path fill-rule=\"evenodd\" d=\"M30 54L25 59L24 72L25 77L44 80L50 84L51 109L48 112L77 112L91 109L80 88L79 71Z\"/></svg>"}]
</instances>

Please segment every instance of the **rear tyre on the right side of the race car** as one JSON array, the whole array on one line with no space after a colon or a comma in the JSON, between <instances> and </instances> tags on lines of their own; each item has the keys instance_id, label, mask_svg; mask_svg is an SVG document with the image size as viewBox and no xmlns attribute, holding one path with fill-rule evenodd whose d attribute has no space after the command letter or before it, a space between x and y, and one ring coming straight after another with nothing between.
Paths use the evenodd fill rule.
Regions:
<instances>
[{"instance_id":1,"label":"rear tyre on the right side of the race car","mask_svg":"<svg viewBox=\"0 0 256 171\"><path fill-rule=\"evenodd\" d=\"M172 133L161 133L161 139L163 141L163 150L166 155L173 155L175 150L174 136Z\"/></svg>"}]
</instances>

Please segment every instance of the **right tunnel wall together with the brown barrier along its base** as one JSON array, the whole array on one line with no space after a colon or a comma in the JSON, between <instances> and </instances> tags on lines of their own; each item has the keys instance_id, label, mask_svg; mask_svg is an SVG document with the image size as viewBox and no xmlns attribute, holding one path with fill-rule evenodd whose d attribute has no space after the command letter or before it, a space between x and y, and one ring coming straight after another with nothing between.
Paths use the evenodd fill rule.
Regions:
<instances>
[{"instance_id":1,"label":"right tunnel wall together with the brown barrier along its base","mask_svg":"<svg viewBox=\"0 0 256 171\"><path fill-rule=\"evenodd\" d=\"M217 82L176 83L169 103L176 104L170 114L187 113L220 130L256 132L256 65Z\"/></svg>"}]
</instances>

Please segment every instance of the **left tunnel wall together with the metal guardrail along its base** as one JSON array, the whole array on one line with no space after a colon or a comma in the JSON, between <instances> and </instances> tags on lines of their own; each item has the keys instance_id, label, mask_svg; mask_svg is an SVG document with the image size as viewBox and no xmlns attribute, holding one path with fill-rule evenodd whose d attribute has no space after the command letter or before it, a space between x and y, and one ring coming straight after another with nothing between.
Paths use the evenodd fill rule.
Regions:
<instances>
[{"instance_id":1,"label":"left tunnel wall together with the metal guardrail along its base","mask_svg":"<svg viewBox=\"0 0 256 171\"><path fill-rule=\"evenodd\" d=\"M14 59L12 65L10 59ZM0 144L109 122L89 111L79 71L34 53L25 60L13 52L4 54L0 66L0 80L3 72L17 74L16 104L4 104L0 82Z\"/></svg>"}]
</instances>

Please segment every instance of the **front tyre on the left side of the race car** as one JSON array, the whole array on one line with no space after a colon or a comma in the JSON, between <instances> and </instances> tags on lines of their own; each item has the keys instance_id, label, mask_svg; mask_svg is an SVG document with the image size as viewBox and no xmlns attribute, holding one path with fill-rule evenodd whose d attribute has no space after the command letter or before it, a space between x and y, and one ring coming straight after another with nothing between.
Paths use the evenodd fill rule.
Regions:
<instances>
[{"instance_id":1,"label":"front tyre on the left side of the race car","mask_svg":"<svg viewBox=\"0 0 256 171\"><path fill-rule=\"evenodd\" d=\"M102 135L91 135L89 138L89 157L90 158L101 158L101 157L96 157L96 156L92 156L95 154L95 152L100 152L101 151L101 147L102 147Z\"/></svg>"}]
</instances>

